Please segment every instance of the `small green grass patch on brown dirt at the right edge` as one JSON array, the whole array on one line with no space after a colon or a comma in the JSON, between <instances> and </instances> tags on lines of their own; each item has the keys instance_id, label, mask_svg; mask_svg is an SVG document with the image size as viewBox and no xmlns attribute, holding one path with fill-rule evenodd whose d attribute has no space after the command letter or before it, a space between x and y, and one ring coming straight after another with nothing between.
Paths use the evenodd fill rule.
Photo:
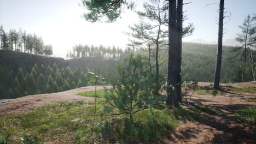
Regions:
<instances>
[{"instance_id":1,"label":"small green grass patch on brown dirt at the right edge","mask_svg":"<svg viewBox=\"0 0 256 144\"><path fill-rule=\"evenodd\" d=\"M237 110L235 115L238 117L238 120L243 124L256 124L256 108L255 107L246 107L245 109Z\"/></svg>"}]
</instances>

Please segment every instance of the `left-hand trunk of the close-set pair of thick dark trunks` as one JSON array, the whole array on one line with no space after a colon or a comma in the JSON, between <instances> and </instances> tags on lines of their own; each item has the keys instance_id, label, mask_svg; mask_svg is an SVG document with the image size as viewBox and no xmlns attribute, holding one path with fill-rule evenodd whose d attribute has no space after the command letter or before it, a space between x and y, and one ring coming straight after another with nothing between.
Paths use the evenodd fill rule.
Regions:
<instances>
[{"instance_id":1,"label":"left-hand trunk of the close-set pair of thick dark trunks","mask_svg":"<svg viewBox=\"0 0 256 144\"><path fill-rule=\"evenodd\" d=\"M167 105L178 106L177 86L177 14L176 0L168 0L168 74L167 74Z\"/></svg>"}]
</instances>

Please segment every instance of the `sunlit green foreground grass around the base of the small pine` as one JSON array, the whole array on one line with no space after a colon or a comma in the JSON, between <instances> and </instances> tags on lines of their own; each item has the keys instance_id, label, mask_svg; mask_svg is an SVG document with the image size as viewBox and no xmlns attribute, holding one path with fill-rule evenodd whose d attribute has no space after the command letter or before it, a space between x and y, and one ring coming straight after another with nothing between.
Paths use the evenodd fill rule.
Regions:
<instances>
[{"instance_id":1,"label":"sunlit green foreground grass around the base of the small pine","mask_svg":"<svg viewBox=\"0 0 256 144\"><path fill-rule=\"evenodd\" d=\"M94 105L83 100L59 101L27 113L2 117L0 137L10 135L10 143L19 143L23 133L31 137L31 141L39 142L148 142L161 139L178 124L176 117L179 117L179 112L167 106L140 111L134 117L134 124L131 124L129 116L106 113L105 102L103 98L97 99L95 117ZM180 117L185 116L184 113ZM92 125L93 122L95 125Z\"/></svg>"}]
</instances>

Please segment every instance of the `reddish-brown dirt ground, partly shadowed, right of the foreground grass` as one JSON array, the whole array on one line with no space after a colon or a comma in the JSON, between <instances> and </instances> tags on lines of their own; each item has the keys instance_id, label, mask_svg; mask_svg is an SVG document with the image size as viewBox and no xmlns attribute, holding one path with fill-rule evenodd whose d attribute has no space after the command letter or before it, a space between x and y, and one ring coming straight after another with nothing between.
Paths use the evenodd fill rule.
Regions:
<instances>
[{"instance_id":1,"label":"reddish-brown dirt ground, partly shadowed, right of the foreground grass","mask_svg":"<svg viewBox=\"0 0 256 144\"><path fill-rule=\"evenodd\" d=\"M211 83L199 82L200 86ZM199 121L179 124L178 128L166 137L162 143L256 143L256 126L245 126L238 122L234 113L246 106L256 106L256 93L244 93L235 87L253 87L253 82L221 84L223 91L216 97L195 95L193 103L216 107L222 113L208 115L202 113ZM254 100L253 100L254 99Z\"/></svg>"}]
</instances>

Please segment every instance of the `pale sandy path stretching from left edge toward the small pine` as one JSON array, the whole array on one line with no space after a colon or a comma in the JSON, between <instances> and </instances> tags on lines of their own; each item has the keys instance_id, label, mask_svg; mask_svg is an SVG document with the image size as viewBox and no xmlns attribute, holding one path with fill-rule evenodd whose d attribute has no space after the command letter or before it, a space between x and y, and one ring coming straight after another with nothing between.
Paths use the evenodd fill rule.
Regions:
<instances>
[{"instance_id":1,"label":"pale sandy path stretching from left edge toward the small pine","mask_svg":"<svg viewBox=\"0 0 256 144\"><path fill-rule=\"evenodd\" d=\"M107 86L109 88L110 86ZM97 89L102 89L104 86L97 86ZM80 87L76 89L72 89L65 92L59 93L46 93L46 94L36 94L36 95L28 95L26 97L17 98L11 101L8 101L4 104L0 104L0 117L13 115L16 113L23 113L26 111L30 111L36 109L39 106L43 106L45 104L54 103L56 101L64 101L64 100L86 100L92 101L94 98L92 97L83 97L78 94L80 92L88 92L94 91L94 86L88 87Z\"/></svg>"}]
</instances>

